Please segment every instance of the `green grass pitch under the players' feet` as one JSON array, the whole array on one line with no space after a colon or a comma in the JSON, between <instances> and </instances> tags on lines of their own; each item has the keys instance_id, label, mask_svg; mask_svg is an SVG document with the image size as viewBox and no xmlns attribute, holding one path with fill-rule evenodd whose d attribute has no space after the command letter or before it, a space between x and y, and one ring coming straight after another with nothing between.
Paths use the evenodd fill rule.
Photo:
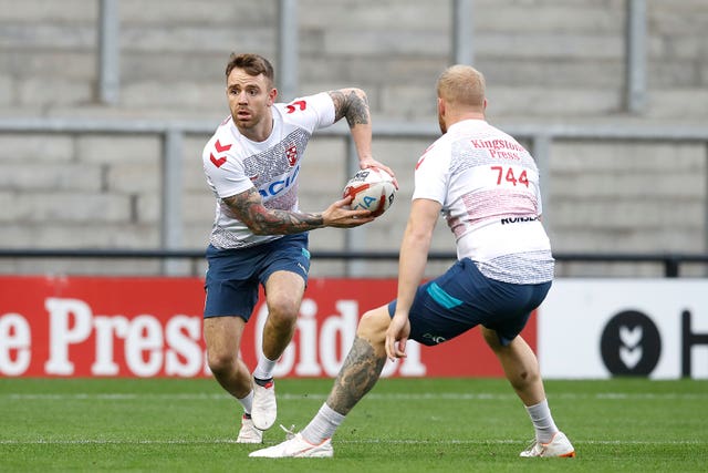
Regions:
<instances>
[{"instance_id":1,"label":"green grass pitch under the players' feet","mask_svg":"<svg viewBox=\"0 0 708 473\"><path fill-rule=\"evenodd\" d=\"M278 381L299 428L332 380ZM334 459L249 459L216 381L0 379L0 471L708 471L708 381L546 381L575 459L520 459L533 430L499 379L385 379L347 417ZM284 439L275 425L266 444Z\"/></svg>"}]
</instances>

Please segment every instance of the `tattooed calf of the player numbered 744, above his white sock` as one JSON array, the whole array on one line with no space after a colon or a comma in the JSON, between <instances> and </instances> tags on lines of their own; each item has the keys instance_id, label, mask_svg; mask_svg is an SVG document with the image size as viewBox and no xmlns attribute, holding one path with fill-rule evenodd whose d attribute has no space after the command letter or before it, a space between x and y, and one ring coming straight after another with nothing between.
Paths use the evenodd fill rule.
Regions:
<instances>
[{"instance_id":1,"label":"tattooed calf of the player numbered 744, above his white sock","mask_svg":"<svg viewBox=\"0 0 708 473\"><path fill-rule=\"evenodd\" d=\"M346 415L376 384L385 362L385 354L377 356L374 347L357 336L334 381L326 401L327 405L340 414Z\"/></svg>"}]
</instances>

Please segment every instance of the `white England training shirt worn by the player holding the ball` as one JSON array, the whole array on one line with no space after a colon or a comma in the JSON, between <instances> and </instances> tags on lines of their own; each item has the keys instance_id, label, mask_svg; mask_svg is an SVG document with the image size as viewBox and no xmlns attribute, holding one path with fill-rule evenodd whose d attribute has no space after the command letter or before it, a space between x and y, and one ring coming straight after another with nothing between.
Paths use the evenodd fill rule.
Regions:
<instances>
[{"instance_id":1,"label":"white England training shirt worn by the player holding the ball","mask_svg":"<svg viewBox=\"0 0 708 473\"><path fill-rule=\"evenodd\" d=\"M273 131L268 140L248 140L229 116L204 148L204 171L217 197L209 243L217 248L242 248L282 236L254 235L222 199L256 187L267 208L296 210L298 177L308 141L315 130L334 123L334 103L326 92L277 103L272 111Z\"/></svg>"}]
</instances>

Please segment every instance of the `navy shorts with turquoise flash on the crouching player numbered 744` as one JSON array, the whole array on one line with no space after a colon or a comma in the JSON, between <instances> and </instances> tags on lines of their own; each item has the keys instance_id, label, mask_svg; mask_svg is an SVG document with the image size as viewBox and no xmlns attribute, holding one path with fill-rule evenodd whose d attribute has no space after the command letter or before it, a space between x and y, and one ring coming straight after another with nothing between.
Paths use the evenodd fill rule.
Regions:
<instances>
[{"instance_id":1,"label":"navy shorts with turquoise flash on the crouching player numbered 744","mask_svg":"<svg viewBox=\"0 0 708 473\"><path fill-rule=\"evenodd\" d=\"M438 345L481 325L509 345L551 289L551 281L516 285L489 279L469 259L458 260L442 276L420 285L410 308L412 340ZM388 305L391 317L396 301Z\"/></svg>"}]
</instances>

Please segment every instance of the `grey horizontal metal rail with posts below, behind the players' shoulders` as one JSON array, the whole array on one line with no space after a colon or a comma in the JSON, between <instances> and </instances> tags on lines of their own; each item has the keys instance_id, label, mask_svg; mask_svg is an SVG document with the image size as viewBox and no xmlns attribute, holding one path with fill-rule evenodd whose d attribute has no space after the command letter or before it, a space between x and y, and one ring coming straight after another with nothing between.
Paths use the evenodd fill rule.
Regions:
<instances>
[{"instance_id":1,"label":"grey horizontal metal rail with posts below, behind the players' shoulders","mask_svg":"<svg viewBox=\"0 0 708 473\"><path fill-rule=\"evenodd\" d=\"M518 140L531 143L531 153L534 155L541 175L545 176L542 188L544 203L544 226L551 233L553 230L553 204L550 189L553 181L550 173L550 160L552 146L555 140L631 140L631 141L664 141L664 142L695 142L706 146L708 156L708 128L704 126L687 125L646 125L646 124L516 124L500 125L506 132ZM178 250L183 248L183 157L184 137L187 134L211 134L215 130L212 122L186 122L186 121L135 121L135 120L85 120L85 119L0 119L0 133L66 133L66 134L148 134L163 137L163 195L162 195L162 222L160 246L162 250ZM374 137L415 137L435 140L439 136L439 130L434 124L377 122L374 123ZM347 127L341 123L319 132L320 135L339 136L347 142L347 173L354 168L356 152ZM708 209L708 202L705 203ZM352 234L362 230L353 228ZM347 233L348 235L350 233ZM708 212L704 222L704 235L708 235ZM355 237L347 237L345 251L357 251ZM708 248L708 241L705 247ZM656 258L656 257L653 257ZM165 259L164 270L171 274L170 260Z\"/></svg>"}]
</instances>

